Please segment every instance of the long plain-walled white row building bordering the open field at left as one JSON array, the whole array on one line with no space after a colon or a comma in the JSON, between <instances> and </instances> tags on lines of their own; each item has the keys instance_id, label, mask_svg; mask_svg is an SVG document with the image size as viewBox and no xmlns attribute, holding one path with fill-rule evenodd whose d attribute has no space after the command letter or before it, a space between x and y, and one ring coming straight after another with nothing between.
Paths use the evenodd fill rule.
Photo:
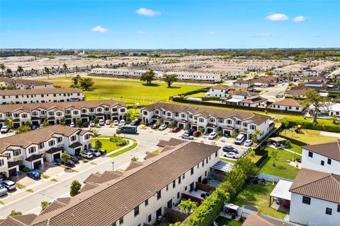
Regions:
<instances>
[{"instance_id":1,"label":"long plain-walled white row building bordering the open field at left","mask_svg":"<svg viewBox=\"0 0 340 226\"><path fill-rule=\"evenodd\" d=\"M43 88L28 90L0 90L1 105L45 102L69 102L84 100L77 88Z\"/></svg>"}]
</instances>

